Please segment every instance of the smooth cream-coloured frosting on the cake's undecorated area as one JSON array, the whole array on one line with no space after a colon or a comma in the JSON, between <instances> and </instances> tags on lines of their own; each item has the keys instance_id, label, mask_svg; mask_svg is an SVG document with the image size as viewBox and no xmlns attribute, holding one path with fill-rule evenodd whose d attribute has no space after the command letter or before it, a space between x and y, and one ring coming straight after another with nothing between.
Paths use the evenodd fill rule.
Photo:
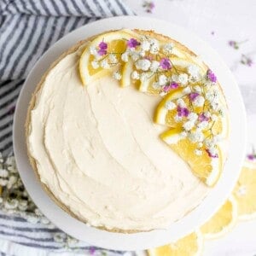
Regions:
<instances>
[{"instance_id":1,"label":"smooth cream-coloured frosting on the cake's undecorated area","mask_svg":"<svg viewBox=\"0 0 256 256\"><path fill-rule=\"evenodd\" d=\"M28 149L41 182L93 226L154 230L183 218L209 189L160 140L160 97L111 76L83 86L78 62L75 52L50 70L31 112Z\"/></svg>"}]
</instances>

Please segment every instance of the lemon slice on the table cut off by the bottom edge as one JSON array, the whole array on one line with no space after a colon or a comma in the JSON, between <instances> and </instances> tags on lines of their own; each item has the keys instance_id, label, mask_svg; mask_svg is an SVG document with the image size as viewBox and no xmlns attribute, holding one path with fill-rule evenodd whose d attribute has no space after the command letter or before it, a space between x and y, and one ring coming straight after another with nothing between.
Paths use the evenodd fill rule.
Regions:
<instances>
[{"instance_id":1,"label":"lemon slice on the table cut off by the bottom edge","mask_svg":"<svg viewBox=\"0 0 256 256\"><path fill-rule=\"evenodd\" d=\"M203 237L200 231L195 231L189 236L167 244L163 247L156 247L148 250L149 256L195 256L201 255L203 248Z\"/></svg>"}]
</instances>

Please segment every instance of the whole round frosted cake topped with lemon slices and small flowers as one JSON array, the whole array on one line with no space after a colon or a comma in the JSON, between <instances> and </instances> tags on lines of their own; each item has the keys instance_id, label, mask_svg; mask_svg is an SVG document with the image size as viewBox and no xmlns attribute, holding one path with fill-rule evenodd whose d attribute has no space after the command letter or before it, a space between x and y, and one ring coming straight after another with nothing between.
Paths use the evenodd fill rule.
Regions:
<instances>
[{"instance_id":1,"label":"whole round frosted cake topped with lemon slices and small flowers","mask_svg":"<svg viewBox=\"0 0 256 256\"><path fill-rule=\"evenodd\" d=\"M224 168L229 113L215 73L153 31L104 32L44 74L26 118L27 154L48 195L103 230L166 229Z\"/></svg>"}]
</instances>

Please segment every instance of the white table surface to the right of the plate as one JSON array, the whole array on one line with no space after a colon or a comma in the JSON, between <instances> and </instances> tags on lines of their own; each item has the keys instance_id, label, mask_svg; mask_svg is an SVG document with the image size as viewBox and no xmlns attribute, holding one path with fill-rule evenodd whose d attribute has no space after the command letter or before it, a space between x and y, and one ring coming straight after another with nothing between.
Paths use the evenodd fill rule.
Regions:
<instances>
[{"instance_id":1,"label":"white table surface to the right of the plate","mask_svg":"<svg viewBox=\"0 0 256 256\"><path fill-rule=\"evenodd\" d=\"M137 15L153 16L189 28L212 45L235 74L247 108L248 152L256 146L256 1L255 0L154 0L153 14L143 0L124 0ZM212 32L214 34L212 35ZM244 41L232 49L228 41ZM254 64L240 64L241 55ZM226 236L206 241L203 255L253 256L256 254L256 219L236 224Z\"/></svg>"}]
</instances>

